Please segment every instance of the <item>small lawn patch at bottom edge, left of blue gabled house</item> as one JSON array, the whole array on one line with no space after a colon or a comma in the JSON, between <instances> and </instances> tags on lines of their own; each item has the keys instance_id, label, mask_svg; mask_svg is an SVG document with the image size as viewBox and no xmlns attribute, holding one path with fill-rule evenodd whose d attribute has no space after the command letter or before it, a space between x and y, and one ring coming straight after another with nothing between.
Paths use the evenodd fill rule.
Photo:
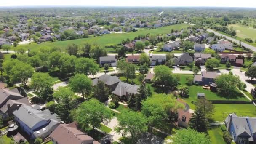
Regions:
<instances>
[{"instance_id":1,"label":"small lawn patch at bottom edge, left of blue gabled house","mask_svg":"<svg viewBox=\"0 0 256 144\"><path fill-rule=\"evenodd\" d=\"M219 126L211 127L210 130L208 130L208 133L212 144L226 144L223 139L223 132Z\"/></svg>"}]
</instances>

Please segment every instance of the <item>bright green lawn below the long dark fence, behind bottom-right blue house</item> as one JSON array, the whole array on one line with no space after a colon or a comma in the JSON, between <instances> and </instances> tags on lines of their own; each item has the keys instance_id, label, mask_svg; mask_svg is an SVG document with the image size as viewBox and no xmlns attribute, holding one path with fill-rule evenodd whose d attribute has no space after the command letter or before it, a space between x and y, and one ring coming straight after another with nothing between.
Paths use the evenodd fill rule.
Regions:
<instances>
[{"instance_id":1,"label":"bright green lawn below the long dark fence, behind bottom-right blue house","mask_svg":"<svg viewBox=\"0 0 256 144\"><path fill-rule=\"evenodd\" d=\"M256 116L256 107L253 104L214 104L213 119L224 121L228 114L235 112L238 116Z\"/></svg>"}]
</instances>

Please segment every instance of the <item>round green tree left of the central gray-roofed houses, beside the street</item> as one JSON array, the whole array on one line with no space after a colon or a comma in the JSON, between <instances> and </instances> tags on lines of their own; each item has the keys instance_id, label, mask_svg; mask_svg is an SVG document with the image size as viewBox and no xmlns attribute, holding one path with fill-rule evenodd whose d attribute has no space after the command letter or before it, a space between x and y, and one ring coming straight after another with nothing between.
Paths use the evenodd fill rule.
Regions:
<instances>
[{"instance_id":1,"label":"round green tree left of the central gray-roofed houses, beside the street","mask_svg":"<svg viewBox=\"0 0 256 144\"><path fill-rule=\"evenodd\" d=\"M69 87L76 93L81 93L83 98L85 95L89 95L92 90L91 79L83 74L76 74L69 79Z\"/></svg>"}]
</instances>

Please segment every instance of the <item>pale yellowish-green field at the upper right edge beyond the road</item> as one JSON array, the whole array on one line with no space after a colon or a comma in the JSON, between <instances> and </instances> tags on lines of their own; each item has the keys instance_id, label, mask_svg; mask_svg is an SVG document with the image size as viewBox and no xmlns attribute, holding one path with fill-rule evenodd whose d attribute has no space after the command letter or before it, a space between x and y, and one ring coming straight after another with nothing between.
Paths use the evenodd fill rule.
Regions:
<instances>
[{"instance_id":1,"label":"pale yellowish-green field at the upper right edge beyond the road","mask_svg":"<svg viewBox=\"0 0 256 144\"><path fill-rule=\"evenodd\" d=\"M228 27L233 27L237 32L237 37L241 38L251 38L252 40L256 40L256 29L248 26L242 26L241 24L229 24Z\"/></svg>"}]
</instances>

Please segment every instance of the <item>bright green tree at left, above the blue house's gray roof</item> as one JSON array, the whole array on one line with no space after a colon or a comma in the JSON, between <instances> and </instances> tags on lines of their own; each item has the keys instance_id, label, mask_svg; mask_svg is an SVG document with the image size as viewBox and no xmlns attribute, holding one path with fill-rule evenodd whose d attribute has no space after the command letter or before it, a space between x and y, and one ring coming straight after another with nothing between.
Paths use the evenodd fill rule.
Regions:
<instances>
[{"instance_id":1,"label":"bright green tree at left, above the blue house's gray roof","mask_svg":"<svg viewBox=\"0 0 256 144\"><path fill-rule=\"evenodd\" d=\"M53 78L48 73L35 72L31 77L30 87L40 91L45 85L53 85Z\"/></svg>"}]
</instances>

